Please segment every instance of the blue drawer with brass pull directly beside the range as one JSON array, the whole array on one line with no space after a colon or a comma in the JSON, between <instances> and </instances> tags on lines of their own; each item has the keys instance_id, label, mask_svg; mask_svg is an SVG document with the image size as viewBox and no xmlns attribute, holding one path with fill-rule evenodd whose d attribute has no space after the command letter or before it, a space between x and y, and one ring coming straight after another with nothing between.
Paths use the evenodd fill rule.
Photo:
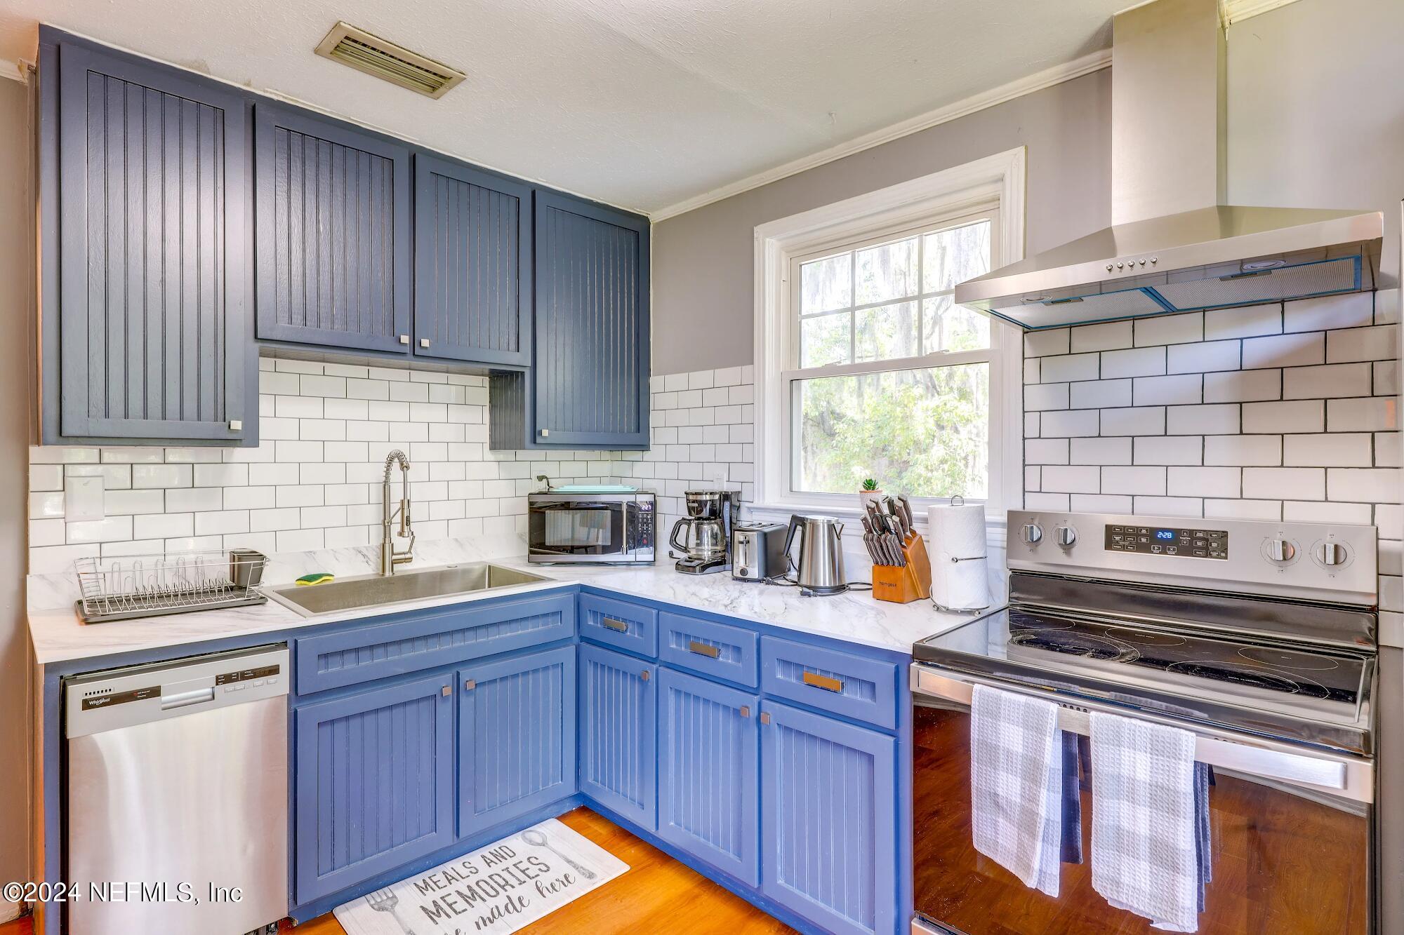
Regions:
<instances>
[{"instance_id":1,"label":"blue drawer with brass pull directly beside the range","mask_svg":"<svg viewBox=\"0 0 1404 935\"><path fill-rule=\"evenodd\" d=\"M761 637L761 691L879 727L897 726L897 665Z\"/></svg>"}]
</instances>

